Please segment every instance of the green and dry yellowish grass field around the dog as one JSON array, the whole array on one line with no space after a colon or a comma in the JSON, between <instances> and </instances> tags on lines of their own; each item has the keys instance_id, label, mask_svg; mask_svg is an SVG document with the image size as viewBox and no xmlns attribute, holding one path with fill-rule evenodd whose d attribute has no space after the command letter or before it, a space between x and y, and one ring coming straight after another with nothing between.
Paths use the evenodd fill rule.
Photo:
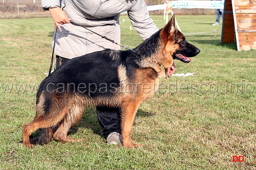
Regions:
<instances>
[{"instance_id":1,"label":"green and dry yellowish grass field around the dog","mask_svg":"<svg viewBox=\"0 0 256 170\"><path fill-rule=\"evenodd\" d=\"M152 18L159 28L165 25L162 16ZM122 19L128 18L121 17L121 43L136 47L142 40ZM221 45L222 26L211 25L215 16L176 19L187 41L201 50L192 63L175 61L176 73L196 74L162 78L167 88L162 85L137 112L132 138L143 147L136 149L107 146L94 107L72 128L70 136L83 138L81 143L51 141L34 149L19 144L22 126L35 116L35 86L49 69L54 23L0 20L0 169L255 170L256 51ZM204 31L212 32L188 34ZM244 161L233 162L232 156Z\"/></svg>"}]
</instances>

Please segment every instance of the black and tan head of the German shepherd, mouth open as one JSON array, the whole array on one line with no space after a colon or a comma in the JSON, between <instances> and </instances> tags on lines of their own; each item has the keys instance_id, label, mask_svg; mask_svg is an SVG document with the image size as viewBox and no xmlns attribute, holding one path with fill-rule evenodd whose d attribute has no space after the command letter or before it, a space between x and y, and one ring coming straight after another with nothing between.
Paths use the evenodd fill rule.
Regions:
<instances>
[{"instance_id":1,"label":"black and tan head of the German shepherd, mouth open","mask_svg":"<svg viewBox=\"0 0 256 170\"><path fill-rule=\"evenodd\" d=\"M191 61L190 57L194 57L200 53L200 49L188 43L185 36L175 28L174 15L161 30L160 36L165 42L164 51L167 53L169 60L166 64L172 64L174 59L178 59L184 63L189 63ZM170 65L162 65L165 68L170 67Z\"/></svg>"}]
</instances>

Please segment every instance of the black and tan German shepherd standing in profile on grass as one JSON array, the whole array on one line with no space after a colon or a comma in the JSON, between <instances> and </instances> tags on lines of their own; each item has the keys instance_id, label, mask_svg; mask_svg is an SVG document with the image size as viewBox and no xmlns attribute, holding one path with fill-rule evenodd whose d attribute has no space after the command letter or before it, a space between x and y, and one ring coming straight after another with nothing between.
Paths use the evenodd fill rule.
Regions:
<instances>
[{"instance_id":1,"label":"black and tan German shepherd standing in profile on grass","mask_svg":"<svg viewBox=\"0 0 256 170\"><path fill-rule=\"evenodd\" d=\"M78 142L67 136L86 106L120 108L121 137L125 148L139 147L131 139L140 104L158 90L159 79L174 59L191 61L200 50L175 28L174 15L166 26L138 47L122 51L105 49L67 61L46 77L36 95L36 116L22 128L23 144L33 148L30 135L44 129L40 144L52 138L62 143ZM53 127L59 124L54 132Z\"/></svg>"}]
</instances>

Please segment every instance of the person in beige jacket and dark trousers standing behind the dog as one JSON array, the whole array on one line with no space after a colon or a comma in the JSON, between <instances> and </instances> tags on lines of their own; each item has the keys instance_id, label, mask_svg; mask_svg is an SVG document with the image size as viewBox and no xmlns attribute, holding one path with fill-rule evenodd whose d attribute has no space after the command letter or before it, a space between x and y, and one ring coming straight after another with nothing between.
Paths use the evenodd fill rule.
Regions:
<instances>
[{"instance_id":1,"label":"person in beige jacket and dark trousers standing behind the dog","mask_svg":"<svg viewBox=\"0 0 256 170\"><path fill-rule=\"evenodd\" d=\"M42 0L42 8L50 11L58 27L54 49L56 68L69 59L94 51L107 48L119 50L119 45L83 27L120 43L119 17L122 12L128 12L132 26L143 40L158 31L143 0ZM54 38L52 45L53 43ZM175 70L173 63L171 68L166 69L166 78L168 79ZM119 108L100 106L96 109L106 143L114 145L122 143Z\"/></svg>"}]
</instances>

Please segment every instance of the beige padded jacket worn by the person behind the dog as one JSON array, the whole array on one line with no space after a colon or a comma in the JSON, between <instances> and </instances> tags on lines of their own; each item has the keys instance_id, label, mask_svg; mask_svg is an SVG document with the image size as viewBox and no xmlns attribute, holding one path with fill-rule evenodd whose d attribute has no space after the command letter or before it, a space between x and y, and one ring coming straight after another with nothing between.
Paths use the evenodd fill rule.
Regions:
<instances>
[{"instance_id":1,"label":"beige padded jacket worn by the person behind the dog","mask_svg":"<svg viewBox=\"0 0 256 170\"><path fill-rule=\"evenodd\" d=\"M44 10L60 7L72 22L120 43L119 16L128 12L132 26L143 40L158 31L143 0L42 0ZM56 34L55 54L72 59L102 49L120 49L119 45L72 23L61 25Z\"/></svg>"}]
</instances>

